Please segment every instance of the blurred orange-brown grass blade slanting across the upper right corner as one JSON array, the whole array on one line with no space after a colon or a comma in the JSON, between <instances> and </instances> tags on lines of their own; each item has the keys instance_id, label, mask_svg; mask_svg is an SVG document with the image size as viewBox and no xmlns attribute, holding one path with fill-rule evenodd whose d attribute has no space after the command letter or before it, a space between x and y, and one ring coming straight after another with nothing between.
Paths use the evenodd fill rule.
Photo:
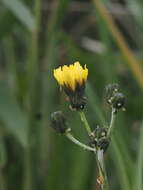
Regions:
<instances>
[{"instance_id":1,"label":"blurred orange-brown grass blade slanting across the upper right corner","mask_svg":"<svg viewBox=\"0 0 143 190\"><path fill-rule=\"evenodd\" d=\"M119 49L121 50L122 54L124 55L130 70L132 71L135 79L137 80L138 84L141 88L143 88L143 71L140 66L140 63L128 47L127 43L125 42L124 37L122 36L121 32L118 30L116 24L114 23L111 15L107 11L106 7L102 3L101 0L93 0L97 10L100 12L102 18L106 22L107 26L109 27L112 36L114 37Z\"/></svg>"}]
</instances>

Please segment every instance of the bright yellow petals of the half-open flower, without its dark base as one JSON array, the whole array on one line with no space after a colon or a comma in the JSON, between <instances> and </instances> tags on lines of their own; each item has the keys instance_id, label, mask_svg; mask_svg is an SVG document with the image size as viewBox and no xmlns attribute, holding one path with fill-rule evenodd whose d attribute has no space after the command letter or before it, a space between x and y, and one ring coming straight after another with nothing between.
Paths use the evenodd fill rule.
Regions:
<instances>
[{"instance_id":1,"label":"bright yellow petals of the half-open flower, without its dark base","mask_svg":"<svg viewBox=\"0 0 143 190\"><path fill-rule=\"evenodd\" d=\"M88 69L86 68L86 65L83 68L79 62L54 69L54 77L58 83L61 86L71 88L73 91L77 84L82 86L86 82L87 76Z\"/></svg>"}]
</instances>

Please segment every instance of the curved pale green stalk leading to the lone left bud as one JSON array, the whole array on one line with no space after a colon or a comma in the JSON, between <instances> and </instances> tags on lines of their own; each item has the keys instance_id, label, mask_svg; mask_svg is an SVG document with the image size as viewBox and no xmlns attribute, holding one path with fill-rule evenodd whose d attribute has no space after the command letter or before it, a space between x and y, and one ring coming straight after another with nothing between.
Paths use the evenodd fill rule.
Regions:
<instances>
[{"instance_id":1,"label":"curved pale green stalk leading to the lone left bud","mask_svg":"<svg viewBox=\"0 0 143 190\"><path fill-rule=\"evenodd\" d=\"M80 141L78 141L75 137L73 137L73 135L71 133L66 133L65 136L71 140L74 144L80 146L81 148L83 148L84 150L88 150L88 151L92 151L92 152L96 152L96 148L92 148L90 146L87 146L83 143L81 143Z\"/></svg>"}]
</instances>

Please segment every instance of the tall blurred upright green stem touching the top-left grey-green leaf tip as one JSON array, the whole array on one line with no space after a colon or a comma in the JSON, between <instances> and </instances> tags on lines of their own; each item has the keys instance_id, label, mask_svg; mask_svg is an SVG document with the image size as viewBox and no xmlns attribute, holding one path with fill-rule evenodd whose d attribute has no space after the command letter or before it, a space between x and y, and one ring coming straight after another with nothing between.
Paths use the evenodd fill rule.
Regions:
<instances>
[{"instance_id":1,"label":"tall blurred upright green stem touching the top-left grey-green leaf tip","mask_svg":"<svg viewBox=\"0 0 143 190\"><path fill-rule=\"evenodd\" d=\"M37 152L37 139L35 126L35 110L39 108L39 86L38 81L38 67L39 67L39 30L41 19L41 0L34 0L34 15L35 15L35 28L31 32L31 45L29 46L29 60L27 65L27 81L28 81L28 119L29 119L29 131L28 131L28 143L29 147L25 150L24 160L24 190L31 190L36 187L35 178L36 173L36 161L34 158L35 152ZM37 87L38 86L38 87ZM36 149L36 151L35 151Z\"/></svg>"}]
</instances>

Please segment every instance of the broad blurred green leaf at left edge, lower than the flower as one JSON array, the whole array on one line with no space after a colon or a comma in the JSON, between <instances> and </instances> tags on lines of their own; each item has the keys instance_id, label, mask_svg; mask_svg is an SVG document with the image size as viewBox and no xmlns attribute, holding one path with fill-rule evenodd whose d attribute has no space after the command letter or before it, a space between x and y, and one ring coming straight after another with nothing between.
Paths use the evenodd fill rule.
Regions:
<instances>
[{"instance_id":1,"label":"broad blurred green leaf at left edge, lower than the flower","mask_svg":"<svg viewBox=\"0 0 143 190\"><path fill-rule=\"evenodd\" d=\"M0 119L9 132L15 135L20 143L26 147L28 119L4 81L0 81Z\"/></svg>"}]
</instances>

